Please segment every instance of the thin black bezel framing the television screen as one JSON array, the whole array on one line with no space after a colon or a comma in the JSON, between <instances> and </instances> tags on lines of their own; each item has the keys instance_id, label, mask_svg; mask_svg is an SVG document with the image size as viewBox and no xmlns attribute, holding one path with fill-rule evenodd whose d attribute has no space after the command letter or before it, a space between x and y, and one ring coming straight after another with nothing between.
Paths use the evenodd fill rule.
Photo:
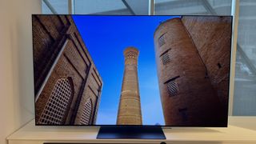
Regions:
<instances>
[{"instance_id":1,"label":"thin black bezel framing the television screen","mask_svg":"<svg viewBox=\"0 0 256 144\"><path fill-rule=\"evenodd\" d=\"M106 16L106 17L155 17L155 16L160 16L160 17L162 17L162 16L181 16L181 18L183 17L183 16L191 16L191 17L230 17L231 18L231 23L230 23L230 61L229 61L229 63L230 63L230 72L229 72L229 77L228 77L228 87L229 87L229 90L228 90L228 103L227 103L227 110L226 110L226 125L225 126L208 126L208 125L206 125L206 126L202 126L202 125L200 125L200 126L198 126L198 125L193 125L193 126L173 126L173 125L109 125L109 124L107 124L107 125L105 125L105 124L103 124L103 125L97 125L97 124L95 124L95 125L50 125L50 124L38 124L37 122L36 122L36 119L34 118L34 122L35 122L35 126L58 126L58 127L60 127L60 126L68 126L68 127L72 127L72 126L74 126L74 127L77 127L77 126L86 126L86 127L98 127L98 126L102 126L102 127L111 127L111 126L117 126L117 127L128 127L128 128L132 128L132 127L136 127L136 128L138 128L138 127L162 127L162 128L170 128L170 127L227 127L228 126L228 112L229 112L229 100L230 100L230 76L231 76L231 54L232 54L232 39L233 39L233 20L234 20L234 16L233 15L201 15L201 14L181 14L181 15L178 15L178 14L168 14L168 15L117 15L117 14L114 14L114 15L106 15L106 14L31 14L31 24L33 23L33 21L32 21L32 18L34 17L34 15L60 15L60 16L66 16L66 15L68 15L68 16L73 16L73 15L78 15L78 16L93 16L93 17L97 17L97 16ZM76 23L74 22L74 26L76 26ZM77 28L77 30L78 30L78 27L76 26L76 28ZM158 28L158 26L156 27L156 29ZM34 81L34 34L33 34L33 25L31 26L31 30L32 30L32 53L33 53L33 83L35 84L35 81ZM80 31L78 30L78 34L80 34ZM80 34L81 35L81 34ZM82 41L84 42L84 40L82 39ZM86 42L84 42L84 44L85 44L85 46L86 46ZM89 54L90 54L90 51L88 51L89 52ZM36 95L37 94L34 94L34 115L36 114L36 109L35 109L35 107L36 107Z\"/></svg>"}]
</instances>

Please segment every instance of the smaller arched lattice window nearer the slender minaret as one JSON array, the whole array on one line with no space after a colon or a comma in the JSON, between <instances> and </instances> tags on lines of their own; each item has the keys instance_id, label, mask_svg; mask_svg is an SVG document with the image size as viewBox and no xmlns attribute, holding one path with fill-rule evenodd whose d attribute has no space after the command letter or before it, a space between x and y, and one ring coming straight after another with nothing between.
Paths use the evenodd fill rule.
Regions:
<instances>
[{"instance_id":1,"label":"smaller arched lattice window nearer the slender minaret","mask_svg":"<svg viewBox=\"0 0 256 144\"><path fill-rule=\"evenodd\" d=\"M85 107L82 111L82 117L80 119L81 125L89 125L90 122L90 115L92 111L92 102L90 99L88 99L85 103Z\"/></svg>"}]
</instances>

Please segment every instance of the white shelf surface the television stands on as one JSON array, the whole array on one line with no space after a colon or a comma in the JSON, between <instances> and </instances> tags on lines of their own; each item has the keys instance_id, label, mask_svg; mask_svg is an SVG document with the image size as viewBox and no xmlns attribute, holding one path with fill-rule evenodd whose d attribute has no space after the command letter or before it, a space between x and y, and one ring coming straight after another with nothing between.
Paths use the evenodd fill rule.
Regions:
<instances>
[{"instance_id":1,"label":"white shelf surface the television stands on","mask_svg":"<svg viewBox=\"0 0 256 144\"><path fill-rule=\"evenodd\" d=\"M163 129L166 140L108 139L98 140L97 126L34 126L34 120L11 134L9 144L39 144L42 142L83 143L250 143L256 144L256 118L230 117L224 128L172 127ZM22 143L23 142L23 143Z\"/></svg>"}]
</instances>

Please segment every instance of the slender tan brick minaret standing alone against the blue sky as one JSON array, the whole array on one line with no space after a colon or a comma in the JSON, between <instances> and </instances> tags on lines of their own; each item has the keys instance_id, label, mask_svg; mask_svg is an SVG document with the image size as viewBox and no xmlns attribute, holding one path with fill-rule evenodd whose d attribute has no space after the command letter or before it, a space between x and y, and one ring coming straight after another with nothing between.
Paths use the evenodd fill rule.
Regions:
<instances>
[{"instance_id":1,"label":"slender tan brick minaret standing alone against the blue sky","mask_svg":"<svg viewBox=\"0 0 256 144\"><path fill-rule=\"evenodd\" d=\"M122 91L118 108L118 125L142 125L142 111L138 90L138 50L127 47Z\"/></svg>"}]
</instances>

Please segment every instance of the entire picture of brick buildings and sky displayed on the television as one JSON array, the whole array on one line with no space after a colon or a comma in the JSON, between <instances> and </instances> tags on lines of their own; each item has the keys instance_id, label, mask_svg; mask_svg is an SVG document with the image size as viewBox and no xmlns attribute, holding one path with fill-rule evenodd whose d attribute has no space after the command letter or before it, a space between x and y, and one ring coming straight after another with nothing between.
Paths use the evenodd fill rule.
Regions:
<instances>
[{"instance_id":1,"label":"entire picture of brick buildings and sky displayed on the television","mask_svg":"<svg viewBox=\"0 0 256 144\"><path fill-rule=\"evenodd\" d=\"M35 124L227 126L232 17L33 14Z\"/></svg>"}]
</instances>

